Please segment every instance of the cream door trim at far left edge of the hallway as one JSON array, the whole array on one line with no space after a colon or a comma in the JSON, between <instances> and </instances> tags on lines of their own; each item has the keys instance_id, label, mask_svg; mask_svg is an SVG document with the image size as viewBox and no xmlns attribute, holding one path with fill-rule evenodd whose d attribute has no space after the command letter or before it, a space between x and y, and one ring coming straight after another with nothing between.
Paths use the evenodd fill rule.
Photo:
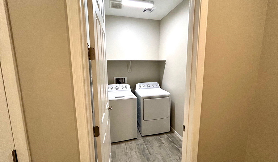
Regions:
<instances>
[{"instance_id":1,"label":"cream door trim at far left edge of the hallway","mask_svg":"<svg viewBox=\"0 0 278 162\"><path fill-rule=\"evenodd\" d=\"M18 161L31 162L6 0L0 2L0 60Z\"/></svg>"}]
</instances>

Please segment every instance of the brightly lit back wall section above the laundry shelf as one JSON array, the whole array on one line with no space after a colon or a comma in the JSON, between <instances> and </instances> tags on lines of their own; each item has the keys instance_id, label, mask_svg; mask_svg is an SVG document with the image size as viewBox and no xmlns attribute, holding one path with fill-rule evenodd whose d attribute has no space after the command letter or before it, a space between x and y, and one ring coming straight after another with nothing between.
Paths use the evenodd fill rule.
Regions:
<instances>
[{"instance_id":1,"label":"brightly lit back wall section above the laundry shelf","mask_svg":"<svg viewBox=\"0 0 278 162\"><path fill-rule=\"evenodd\" d=\"M107 59L159 59L159 21L105 15Z\"/></svg>"}]
</instances>

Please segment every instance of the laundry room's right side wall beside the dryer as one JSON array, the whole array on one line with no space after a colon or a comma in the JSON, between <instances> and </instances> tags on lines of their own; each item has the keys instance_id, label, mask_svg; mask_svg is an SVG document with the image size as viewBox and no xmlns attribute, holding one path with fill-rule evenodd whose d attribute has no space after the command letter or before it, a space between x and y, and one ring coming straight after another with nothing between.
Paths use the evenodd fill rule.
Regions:
<instances>
[{"instance_id":1,"label":"laundry room's right side wall beside the dryer","mask_svg":"<svg viewBox=\"0 0 278 162\"><path fill-rule=\"evenodd\" d=\"M166 60L162 89L171 93L171 127L183 135L189 0L160 21L159 57Z\"/></svg>"}]
</instances>

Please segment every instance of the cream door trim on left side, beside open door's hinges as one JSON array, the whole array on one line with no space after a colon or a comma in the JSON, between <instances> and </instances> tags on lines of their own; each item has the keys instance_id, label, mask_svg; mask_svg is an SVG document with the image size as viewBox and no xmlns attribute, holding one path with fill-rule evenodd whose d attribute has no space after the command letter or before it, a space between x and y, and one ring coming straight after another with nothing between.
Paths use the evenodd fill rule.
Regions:
<instances>
[{"instance_id":1,"label":"cream door trim on left side, beside open door's hinges","mask_svg":"<svg viewBox=\"0 0 278 162\"><path fill-rule=\"evenodd\" d=\"M66 0L81 162L95 162L84 0Z\"/></svg>"}]
</instances>

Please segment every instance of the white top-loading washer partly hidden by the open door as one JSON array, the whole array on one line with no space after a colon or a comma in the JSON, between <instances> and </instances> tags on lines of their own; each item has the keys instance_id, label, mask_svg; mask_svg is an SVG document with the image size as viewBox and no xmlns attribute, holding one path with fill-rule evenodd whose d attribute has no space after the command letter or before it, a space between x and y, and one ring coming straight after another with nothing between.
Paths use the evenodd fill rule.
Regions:
<instances>
[{"instance_id":1,"label":"white top-loading washer partly hidden by the open door","mask_svg":"<svg viewBox=\"0 0 278 162\"><path fill-rule=\"evenodd\" d=\"M136 96L128 84L108 85L111 142L137 138Z\"/></svg>"}]
</instances>

